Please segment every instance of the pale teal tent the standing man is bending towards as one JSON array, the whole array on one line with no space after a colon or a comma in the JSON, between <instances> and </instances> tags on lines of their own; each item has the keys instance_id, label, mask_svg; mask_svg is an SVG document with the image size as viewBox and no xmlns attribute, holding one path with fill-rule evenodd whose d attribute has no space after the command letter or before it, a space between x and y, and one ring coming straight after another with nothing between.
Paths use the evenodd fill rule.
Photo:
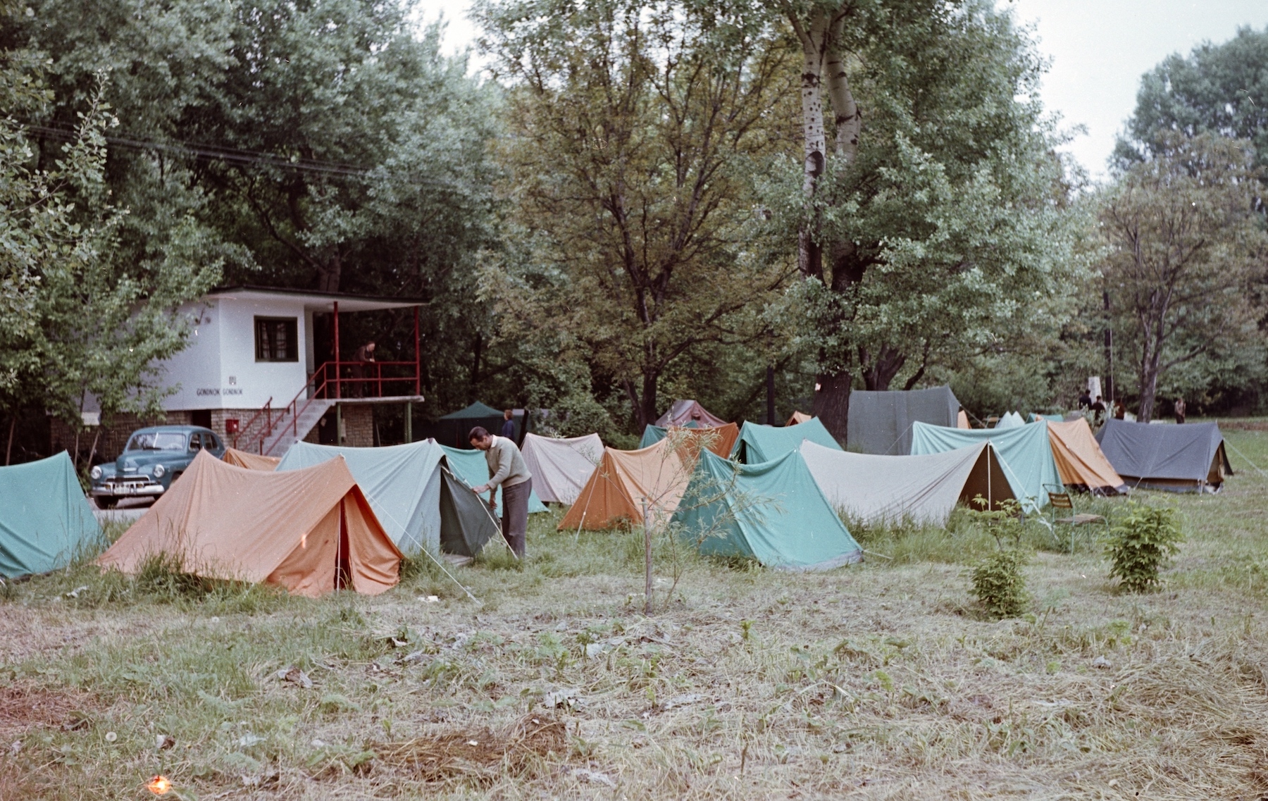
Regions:
<instances>
[{"instance_id":1,"label":"pale teal tent the standing man is bending towards","mask_svg":"<svg viewBox=\"0 0 1268 801\"><path fill-rule=\"evenodd\" d=\"M473 556L497 534L484 503L450 473L431 440L389 447L295 442L278 470L299 470L342 456L384 531L404 554L420 549Z\"/></svg>"}]
</instances>

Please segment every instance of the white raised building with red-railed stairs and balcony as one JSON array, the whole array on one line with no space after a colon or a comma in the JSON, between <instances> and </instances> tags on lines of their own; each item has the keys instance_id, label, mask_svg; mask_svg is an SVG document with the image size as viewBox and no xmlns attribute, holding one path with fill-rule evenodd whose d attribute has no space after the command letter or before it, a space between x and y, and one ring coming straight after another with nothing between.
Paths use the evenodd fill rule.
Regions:
<instances>
[{"instance_id":1,"label":"white raised building with red-railed stairs and balcony","mask_svg":"<svg viewBox=\"0 0 1268 801\"><path fill-rule=\"evenodd\" d=\"M188 346L158 365L158 380L175 388L164 398L166 420L161 422L204 426L240 449L276 456L295 440L314 439L318 421L332 414L333 441L372 445L365 440L373 440L373 423L366 425L373 404L422 401L418 305L416 300L265 286L217 289L181 308L194 324ZM413 359L354 361L360 343L339 342L340 313L399 308L415 309ZM321 343L314 314L332 316L331 332ZM318 352L333 357L318 364ZM101 423L105 436L98 437L98 455L110 459L142 421L117 416ZM53 428L55 449L68 445L56 441L58 426Z\"/></svg>"}]
</instances>

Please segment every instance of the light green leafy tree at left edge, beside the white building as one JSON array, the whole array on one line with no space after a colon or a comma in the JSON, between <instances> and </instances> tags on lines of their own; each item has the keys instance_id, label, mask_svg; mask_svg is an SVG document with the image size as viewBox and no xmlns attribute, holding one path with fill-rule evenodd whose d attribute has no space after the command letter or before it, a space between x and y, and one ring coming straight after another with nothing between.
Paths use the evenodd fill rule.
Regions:
<instances>
[{"instance_id":1,"label":"light green leafy tree at left edge, beside the white building","mask_svg":"<svg viewBox=\"0 0 1268 801\"><path fill-rule=\"evenodd\" d=\"M15 10L5 9L13 19ZM19 16L22 19L25 15ZM117 119L95 79L79 123L43 158L29 118L56 94L43 86L33 51L3 53L0 119L0 406L13 422L41 408L82 425L91 395L103 414L153 411L169 388L153 362L184 346L189 326L178 307L210 289L221 262L189 247L180 221L148 259L120 257L127 214L105 180L105 133Z\"/></svg>"}]
</instances>

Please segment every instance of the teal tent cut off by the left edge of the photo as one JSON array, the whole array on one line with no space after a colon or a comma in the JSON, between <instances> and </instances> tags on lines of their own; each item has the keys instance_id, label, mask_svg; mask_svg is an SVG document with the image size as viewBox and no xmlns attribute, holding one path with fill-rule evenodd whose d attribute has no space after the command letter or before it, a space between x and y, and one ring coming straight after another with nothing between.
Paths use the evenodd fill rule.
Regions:
<instances>
[{"instance_id":1,"label":"teal tent cut off by the left edge of the photo","mask_svg":"<svg viewBox=\"0 0 1268 801\"><path fill-rule=\"evenodd\" d=\"M66 451L0 468L0 575L65 568L101 545L101 526Z\"/></svg>"}]
</instances>

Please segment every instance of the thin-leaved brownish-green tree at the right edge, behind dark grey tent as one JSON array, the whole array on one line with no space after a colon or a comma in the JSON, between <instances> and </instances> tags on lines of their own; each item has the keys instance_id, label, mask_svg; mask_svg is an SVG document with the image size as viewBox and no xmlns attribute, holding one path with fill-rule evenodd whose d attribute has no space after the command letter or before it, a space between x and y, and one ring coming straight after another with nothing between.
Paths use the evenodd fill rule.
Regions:
<instances>
[{"instance_id":1,"label":"thin-leaved brownish-green tree at the right edge, behind dark grey tent","mask_svg":"<svg viewBox=\"0 0 1268 801\"><path fill-rule=\"evenodd\" d=\"M1146 422L1169 370L1263 340L1252 295L1268 267L1246 142L1163 133L1151 152L1104 190L1099 214L1104 286Z\"/></svg>"}]
</instances>

